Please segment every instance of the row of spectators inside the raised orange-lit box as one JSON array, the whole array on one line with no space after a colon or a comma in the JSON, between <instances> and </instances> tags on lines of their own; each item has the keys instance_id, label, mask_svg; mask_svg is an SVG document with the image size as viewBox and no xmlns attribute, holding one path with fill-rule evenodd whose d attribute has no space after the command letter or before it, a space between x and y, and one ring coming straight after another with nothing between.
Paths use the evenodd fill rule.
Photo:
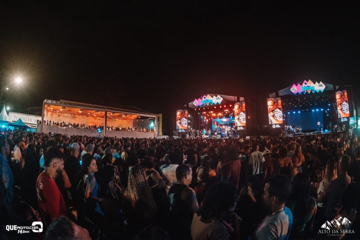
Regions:
<instances>
[{"instance_id":1,"label":"row of spectators inside the raised orange-lit box","mask_svg":"<svg viewBox=\"0 0 360 240\"><path fill-rule=\"evenodd\" d=\"M37 124L41 124L41 120L37 121ZM86 125L86 124L79 124L79 123L65 123L65 122L54 122L54 121L45 121L43 122L44 125L54 126L54 127L66 127L66 128L84 128L84 129L92 129L96 130L100 128L104 130L103 125ZM129 131L129 132L154 132L154 129L149 128L122 128L122 127L114 127L114 126L107 126L106 127L109 131Z\"/></svg>"}]
</instances>

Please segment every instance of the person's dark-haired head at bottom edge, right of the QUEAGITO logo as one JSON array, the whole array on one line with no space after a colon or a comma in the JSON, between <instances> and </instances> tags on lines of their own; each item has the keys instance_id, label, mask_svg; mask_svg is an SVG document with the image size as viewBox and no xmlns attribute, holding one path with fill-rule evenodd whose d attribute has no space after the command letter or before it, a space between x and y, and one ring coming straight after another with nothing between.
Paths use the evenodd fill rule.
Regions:
<instances>
[{"instance_id":1,"label":"person's dark-haired head at bottom edge, right of the QUEAGITO logo","mask_svg":"<svg viewBox=\"0 0 360 240\"><path fill-rule=\"evenodd\" d=\"M89 232L68 218L56 218L46 230L45 240L91 240Z\"/></svg>"}]
</instances>

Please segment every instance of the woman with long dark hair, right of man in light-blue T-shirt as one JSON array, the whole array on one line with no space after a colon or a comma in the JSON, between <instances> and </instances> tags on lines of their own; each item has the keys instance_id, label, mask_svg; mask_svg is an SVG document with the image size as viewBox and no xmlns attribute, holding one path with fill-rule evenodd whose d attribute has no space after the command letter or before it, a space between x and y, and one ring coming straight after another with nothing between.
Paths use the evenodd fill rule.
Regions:
<instances>
[{"instance_id":1,"label":"woman with long dark hair, right of man in light-blue T-shirt","mask_svg":"<svg viewBox=\"0 0 360 240\"><path fill-rule=\"evenodd\" d=\"M293 180L293 191L286 206L293 213L291 237L309 237L316 213L316 202L310 197L310 177L298 173Z\"/></svg>"}]
</instances>

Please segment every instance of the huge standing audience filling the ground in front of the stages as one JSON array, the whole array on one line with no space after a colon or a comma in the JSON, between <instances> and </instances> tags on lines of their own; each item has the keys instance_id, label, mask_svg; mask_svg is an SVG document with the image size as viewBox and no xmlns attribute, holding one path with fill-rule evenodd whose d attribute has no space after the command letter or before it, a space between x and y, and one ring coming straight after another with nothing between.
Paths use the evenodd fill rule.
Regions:
<instances>
[{"instance_id":1,"label":"huge standing audience filling the ground in front of the stages","mask_svg":"<svg viewBox=\"0 0 360 240\"><path fill-rule=\"evenodd\" d=\"M336 229L346 231L332 238L359 229L355 134L205 140L8 131L0 148L5 240L326 239L319 229L340 218L348 221ZM4 227L33 222L44 230Z\"/></svg>"}]
</instances>

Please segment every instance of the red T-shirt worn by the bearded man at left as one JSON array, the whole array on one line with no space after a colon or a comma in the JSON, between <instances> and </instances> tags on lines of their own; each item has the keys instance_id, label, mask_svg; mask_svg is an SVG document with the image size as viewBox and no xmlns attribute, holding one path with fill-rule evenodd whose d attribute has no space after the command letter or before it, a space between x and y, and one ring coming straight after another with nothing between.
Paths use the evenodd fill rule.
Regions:
<instances>
[{"instance_id":1,"label":"red T-shirt worn by the bearded man at left","mask_svg":"<svg viewBox=\"0 0 360 240\"><path fill-rule=\"evenodd\" d=\"M68 216L65 200L52 177L42 172L36 180L37 201L41 217L51 223L59 216Z\"/></svg>"}]
</instances>

